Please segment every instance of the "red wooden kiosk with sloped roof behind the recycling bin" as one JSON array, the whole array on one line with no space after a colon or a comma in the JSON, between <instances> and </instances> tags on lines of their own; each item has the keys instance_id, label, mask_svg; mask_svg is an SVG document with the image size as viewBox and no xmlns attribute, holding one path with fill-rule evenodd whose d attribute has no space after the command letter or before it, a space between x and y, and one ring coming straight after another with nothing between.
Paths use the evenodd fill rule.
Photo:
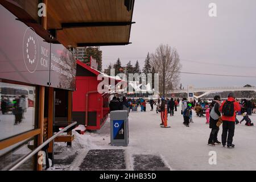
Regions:
<instances>
[{"instance_id":1,"label":"red wooden kiosk with sloped roof behind the recycling bin","mask_svg":"<svg viewBox=\"0 0 256 182\"><path fill-rule=\"evenodd\" d=\"M77 60L76 91L73 92L72 117L86 130L100 130L109 114L109 93L100 94L97 86L101 82L97 76L101 72ZM110 79L113 77L107 76ZM115 80L117 84L118 80Z\"/></svg>"}]
</instances>

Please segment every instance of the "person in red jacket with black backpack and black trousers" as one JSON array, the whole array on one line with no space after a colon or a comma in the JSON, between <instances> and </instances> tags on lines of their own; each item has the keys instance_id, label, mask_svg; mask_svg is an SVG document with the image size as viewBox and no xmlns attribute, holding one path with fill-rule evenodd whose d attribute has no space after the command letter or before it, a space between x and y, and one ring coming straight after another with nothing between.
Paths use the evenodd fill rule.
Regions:
<instances>
[{"instance_id":1,"label":"person in red jacket with black backpack and black trousers","mask_svg":"<svg viewBox=\"0 0 256 182\"><path fill-rule=\"evenodd\" d=\"M241 111L241 106L238 102L236 102L234 94L229 93L228 100L224 101L220 107L220 111L222 113L222 145L226 146L226 142L228 142L228 148L234 148L233 137L234 137L234 129L235 129L235 121L236 121L236 112ZM228 136L228 141L227 141Z\"/></svg>"}]
</instances>

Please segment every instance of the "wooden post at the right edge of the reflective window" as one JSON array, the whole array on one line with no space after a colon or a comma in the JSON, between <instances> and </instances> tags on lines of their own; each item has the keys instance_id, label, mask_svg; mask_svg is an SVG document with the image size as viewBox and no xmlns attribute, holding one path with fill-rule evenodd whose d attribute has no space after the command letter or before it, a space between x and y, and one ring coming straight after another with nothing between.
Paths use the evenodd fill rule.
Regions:
<instances>
[{"instance_id":1,"label":"wooden post at the right edge of the reflective window","mask_svg":"<svg viewBox=\"0 0 256 182\"><path fill-rule=\"evenodd\" d=\"M39 86L38 128L40 129L40 134L38 135L38 146L43 143L44 137L44 91L44 86ZM42 164L37 163L37 165L38 171L42 171Z\"/></svg>"}]
</instances>

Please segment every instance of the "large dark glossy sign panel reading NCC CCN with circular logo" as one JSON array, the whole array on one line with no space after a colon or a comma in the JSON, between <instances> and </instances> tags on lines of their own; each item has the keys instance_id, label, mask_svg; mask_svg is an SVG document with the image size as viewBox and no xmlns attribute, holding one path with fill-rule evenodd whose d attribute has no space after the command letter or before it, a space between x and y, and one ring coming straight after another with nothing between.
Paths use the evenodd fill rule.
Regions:
<instances>
[{"instance_id":1,"label":"large dark glossy sign panel reading NCC CCN with circular logo","mask_svg":"<svg viewBox=\"0 0 256 182\"><path fill-rule=\"evenodd\" d=\"M76 60L0 5L0 78L75 90ZM51 72L50 72L51 70Z\"/></svg>"}]
</instances>

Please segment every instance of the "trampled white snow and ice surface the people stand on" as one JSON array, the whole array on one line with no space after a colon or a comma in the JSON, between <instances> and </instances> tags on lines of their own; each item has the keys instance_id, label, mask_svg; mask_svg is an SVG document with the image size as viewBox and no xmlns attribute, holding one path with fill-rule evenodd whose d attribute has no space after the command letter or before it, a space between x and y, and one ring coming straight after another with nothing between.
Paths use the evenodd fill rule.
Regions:
<instances>
[{"instance_id":1,"label":"trampled white snow and ice surface the people stand on","mask_svg":"<svg viewBox=\"0 0 256 182\"><path fill-rule=\"evenodd\" d=\"M209 125L205 117L199 118L193 113L190 127L185 127L180 108L174 117L168 116L168 125L165 129L159 126L160 114L149 111L130 113L128 147L112 147L110 143L110 121L105 123L100 131L86 132L84 135L75 134L72 148L65 147L64 143L56 143L59 156L67 157L76 154L76 158L68 170L79 170L82 159L92 149L124 149L126 151L127 170L133 170L132 155L153 154L161 156L170 169L174 170L256 170L256 127L236 125L233 143L235 148L223 148L221 145L208 146L210 134ZM252 122L256 123L256 115L252 115ZM242 116L238 116L241 121ZM76 133L73 131L73 133ZM222 128L218 134L221 141ZM209 164L209 152L216 151L217 164Z\"/></svg>"}]
</instances>

